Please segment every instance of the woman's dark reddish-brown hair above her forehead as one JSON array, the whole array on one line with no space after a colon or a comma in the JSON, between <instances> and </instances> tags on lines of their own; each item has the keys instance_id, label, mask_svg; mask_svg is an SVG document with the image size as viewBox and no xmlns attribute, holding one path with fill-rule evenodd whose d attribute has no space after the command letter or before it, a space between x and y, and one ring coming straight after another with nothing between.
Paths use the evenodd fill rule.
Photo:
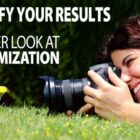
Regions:
<instances>
[{"instance_id":1,"label":"woman's dark reddish-brown hair above her forehead","mask_svg":"<svg viewBox=\"0 0 140 140\"><path fill-rule=\"evenodd\" d=\"M132 16L125 20L110 36L105 44L104 54L111 60L115 50L140 49L140 16Z\"/></svg>"}]
</instances>

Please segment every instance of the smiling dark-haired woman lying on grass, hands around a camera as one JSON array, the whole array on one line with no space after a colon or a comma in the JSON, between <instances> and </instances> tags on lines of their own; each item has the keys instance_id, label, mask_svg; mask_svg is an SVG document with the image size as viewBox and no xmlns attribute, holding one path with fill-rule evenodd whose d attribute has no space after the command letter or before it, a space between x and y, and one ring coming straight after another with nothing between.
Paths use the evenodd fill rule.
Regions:
<instances>
[{"instance_id":1,"label":"smiling dark-haired woman lying on grass, hands around a camera","mask_svg":"<svg viewBox=\"0 0 140 140\"><path fill-rule=\"evenodd\" d=\"M84 87L87 104L78 113L94 108L96 114L106 119L140 122L140 16L125 21L110 37L106 47L108 59L121 70L121 76L108 68L112 85L96 72L88 71L98 89Z\"/></svg>"}]
</instances>

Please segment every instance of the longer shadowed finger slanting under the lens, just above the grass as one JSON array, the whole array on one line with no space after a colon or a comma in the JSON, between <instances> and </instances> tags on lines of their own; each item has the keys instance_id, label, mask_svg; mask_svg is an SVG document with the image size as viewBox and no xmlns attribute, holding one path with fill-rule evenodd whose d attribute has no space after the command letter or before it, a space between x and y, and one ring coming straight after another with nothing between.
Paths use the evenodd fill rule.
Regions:
<instances>
[{"instance_id":1,"label":"longer shadowed finger slanting under the lens, just above the grass","mask_svg":"<svg viewBox=\"0 0 140 140\"><path fill-rule=\"evenodd\" d=\"M86 104L83 107L81 107L78 111L77 114L78 115L82 115L84 113L87 113L89 110L91 110L93 108L93 105L91 104Z\"/></svg>"}]
</instances>

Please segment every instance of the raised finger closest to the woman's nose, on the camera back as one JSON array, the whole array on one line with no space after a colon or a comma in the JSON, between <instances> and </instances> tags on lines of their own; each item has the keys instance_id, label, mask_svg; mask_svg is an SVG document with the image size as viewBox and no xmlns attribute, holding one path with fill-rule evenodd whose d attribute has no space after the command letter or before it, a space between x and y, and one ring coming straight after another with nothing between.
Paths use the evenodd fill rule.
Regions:
<instances>
[{"instance_id":1,"label":"raised finger closest to the woman's nose, on the camera back","mask_svg":"<svg viewBox=\"0 0 140 140\"><path fill-rule=\"evenodd\" d=\"M109 77L110 81L118 87L120 87L120 86L122 86L122 84L124 84L124 82L113 72L111 67L108 68L108 77Z\"/></svg>"}]
</instances>

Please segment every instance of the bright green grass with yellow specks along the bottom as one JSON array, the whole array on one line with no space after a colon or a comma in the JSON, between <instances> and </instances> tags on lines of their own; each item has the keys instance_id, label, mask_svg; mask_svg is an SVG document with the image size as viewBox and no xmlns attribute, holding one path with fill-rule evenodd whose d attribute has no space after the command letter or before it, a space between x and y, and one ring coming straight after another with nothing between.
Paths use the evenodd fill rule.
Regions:
<instances>
[{"instance_id":1,"label":"bright green grass with yellow specks along the bottom","mask_svg":"<svg viewBox=\"0 0 140 140\"><path fill-rule=\"evenodd\" d=\"M47 109L0 107L0 140L139 140L140 124L95 116L47 115Z\"/></svg>"}]
</instances>

